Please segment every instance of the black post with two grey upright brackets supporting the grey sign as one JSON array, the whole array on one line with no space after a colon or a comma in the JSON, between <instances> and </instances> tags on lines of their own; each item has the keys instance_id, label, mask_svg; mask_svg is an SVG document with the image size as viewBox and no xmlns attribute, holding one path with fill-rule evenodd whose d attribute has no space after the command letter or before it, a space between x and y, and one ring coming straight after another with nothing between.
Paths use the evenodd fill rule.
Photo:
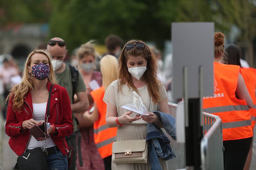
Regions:
<instances>
[{"instance_id":1,"label":"black post with two grey upright brackets supporting the grey sign","mask_svg":"<svg viewBox=\"0 0 256 170\"><path fill-rule=\"evenodd\" d=\"M188 99L187 67L183 67L183 96L185 101L186 166L201 170L200 141L202 139L203 67L199 67L199 97Z\"/></svg>"}]
</instances>

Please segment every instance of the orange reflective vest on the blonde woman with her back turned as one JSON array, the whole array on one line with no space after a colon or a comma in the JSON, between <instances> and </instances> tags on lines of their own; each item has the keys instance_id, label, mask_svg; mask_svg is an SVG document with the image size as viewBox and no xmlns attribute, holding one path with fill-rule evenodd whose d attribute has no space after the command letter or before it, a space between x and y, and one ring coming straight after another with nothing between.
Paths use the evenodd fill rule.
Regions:
<instances>
[{"instance_id":1,"label":"orange reflective vest on the blonde woman with her back turned","mask_svg":"<svg viewBox=\"0 0 256 170\"><path fill-rule=\"evenodd\" d=\"M104 94L103 86L91 92L99 111L99 119L93 124L94 142L102 158L112 155L112 143L116 139L117 132L117 128L109 128L106 123L107 104L103 102Z\"/></svg>"}]
</instances>

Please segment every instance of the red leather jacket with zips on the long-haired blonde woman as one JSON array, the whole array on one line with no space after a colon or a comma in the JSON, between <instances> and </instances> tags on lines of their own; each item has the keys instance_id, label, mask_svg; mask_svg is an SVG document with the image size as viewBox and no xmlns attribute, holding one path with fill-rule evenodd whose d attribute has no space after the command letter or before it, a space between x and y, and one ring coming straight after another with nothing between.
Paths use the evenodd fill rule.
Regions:
<instances>
[{"instance_id":1,"label":"red leather jacket with zips on the long-haired blonde woman","mask_svg":"<svg viewBox=\"0 0 256 170\"><path fill-rule=\"evenodd\" d=\"M48 91L50 87L51 83L48 82ZM29 138L33 138L28 129L22 131L22 122L31 118L33 118L33 105L30 92L24 97L24 103L20 113L16 113L12 110L12 98L9 100L5 133L11 137L9 145L19 156L26 151ZM71 135L74 130L72 112L67 90L56 84L52 87L50 117L48 118L48 122L54 124L56 127L55 130L58 132L56 135L50 135L53 142L63 154L67 154L69 151L65 136Z\"/></svg>"}]
</instances>

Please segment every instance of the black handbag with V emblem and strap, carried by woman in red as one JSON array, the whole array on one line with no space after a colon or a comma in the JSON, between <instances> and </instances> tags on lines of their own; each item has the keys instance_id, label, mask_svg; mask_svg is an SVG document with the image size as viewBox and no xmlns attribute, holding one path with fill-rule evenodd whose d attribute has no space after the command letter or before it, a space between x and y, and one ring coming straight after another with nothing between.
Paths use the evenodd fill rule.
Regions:
<instances>
[{"instance_id":1,"label":"black handbag with V emblem and strap, carried by woman in red","mask_svg":"<svg viewBox=\"0 0 256 170\"><path fill-rule=\"evenodd\" d=\"M50 110L50 102L51 102L51 93L52 93L52 86L49 91L48 97L48 105L47 105L47 112L46 112L46 123L48 123L49 110ZM45 149L44 141L44 148L37 147L34 148L26 153L20 155L17 159L17 163L15 165L18 170L48 170L47 163L45 157L48 156L48 152Z\"/></svg>"}]
</instances>

